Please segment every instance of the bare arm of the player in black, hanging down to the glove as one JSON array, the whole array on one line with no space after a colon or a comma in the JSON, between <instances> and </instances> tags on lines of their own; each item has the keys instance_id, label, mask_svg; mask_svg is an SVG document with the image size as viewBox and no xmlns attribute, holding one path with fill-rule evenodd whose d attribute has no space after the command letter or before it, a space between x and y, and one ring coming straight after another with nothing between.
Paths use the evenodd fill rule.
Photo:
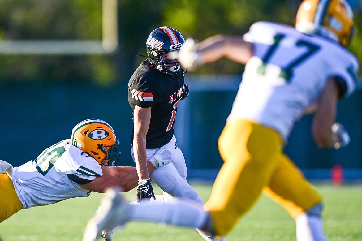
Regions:
<instances>
[{"instance_id":1,"label":"bare arm of the player in black, hanging down to the glove","mask_svg":"<svg viewBox=\"0 0 362 241\"><path fill-rule=\"evenodd\" d=\"M139 179L150 179L146 168L146 135L150 126L151 107L142 108L135 106L134 113L134 139L133 148L136 169Z\"/></svg>"}]
</instances>

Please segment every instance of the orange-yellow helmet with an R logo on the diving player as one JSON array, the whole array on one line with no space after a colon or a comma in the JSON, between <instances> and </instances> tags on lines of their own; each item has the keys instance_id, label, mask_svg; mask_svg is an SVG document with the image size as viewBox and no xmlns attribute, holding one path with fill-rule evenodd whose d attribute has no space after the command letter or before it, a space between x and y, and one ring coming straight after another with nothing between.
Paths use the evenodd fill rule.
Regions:
<instances>
[{"instance_id":1,"label":"orange-yellow helmet with an R logo on the diving player","mask_svg":"<svg viewBox=\"0 0 362 241\"><path fill-rule=\"evenodd\" d=\"M78 123L72 130L71 141L101 165L114 166L121 155L116 148L119 140L113 128L103 120L88 119Z\"/></svg>"}]
</instances>

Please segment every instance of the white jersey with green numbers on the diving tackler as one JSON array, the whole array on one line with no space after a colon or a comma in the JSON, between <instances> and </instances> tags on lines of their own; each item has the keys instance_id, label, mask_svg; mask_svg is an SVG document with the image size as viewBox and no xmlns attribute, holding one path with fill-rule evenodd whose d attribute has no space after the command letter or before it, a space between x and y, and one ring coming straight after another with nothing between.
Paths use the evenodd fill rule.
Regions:
<instances>
[{"instance_id":1,"label":"white jersey with green numbers on the diving tackler","mask_svg":"<svg viewBox=\"0 0 362 241\"><path fill-rule=\"evenodd\" d=\"M67 139L45 149L35 160L15 167L12 180L23 208L27 209L89 196L90 191L71 181L69 174L94 180L102 176L102 169L93 157Z\"/></svg>"}]
</instances>

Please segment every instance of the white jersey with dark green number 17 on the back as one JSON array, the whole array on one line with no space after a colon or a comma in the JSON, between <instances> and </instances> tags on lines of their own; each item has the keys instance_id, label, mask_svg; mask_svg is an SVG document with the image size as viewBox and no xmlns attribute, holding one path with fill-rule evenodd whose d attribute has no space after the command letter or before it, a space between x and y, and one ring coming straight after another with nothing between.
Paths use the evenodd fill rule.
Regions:
<instances>
[{"instance_id":1,"label":"white jersey with dark green number 17 on the back","mask_svg":"<svg viewBox=\"0 0 362 241\"><path fill-rule=\"evenodd\" d=\"M286 140L303 110L317 101L329 77L355 88L357 59L326 38L273 22L256 22L244 35L253 57L227 121L249 119L277 130Z\"/></svg>"}]
</instances>

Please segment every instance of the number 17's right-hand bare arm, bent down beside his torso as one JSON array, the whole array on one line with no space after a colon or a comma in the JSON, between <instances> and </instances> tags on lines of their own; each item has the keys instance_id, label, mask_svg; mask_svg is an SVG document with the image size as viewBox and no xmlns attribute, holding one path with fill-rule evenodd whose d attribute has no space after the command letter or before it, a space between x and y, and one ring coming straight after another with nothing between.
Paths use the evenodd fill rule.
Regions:
<instances>
[{"instance_id":1,"label":"number 17's right-hand bare arm, bent down beside his torso","mask_svg":"<svg viewBox=\"0 0 362 241\"><path fill-rule=\"evenodd\" d=\"M318 99L318 109L313 118L312 134L320 148L331 148L340 141L332 131L332 125L336 119L338 93L336 79L330 78Z\"/></svg>"}]
</instances>

